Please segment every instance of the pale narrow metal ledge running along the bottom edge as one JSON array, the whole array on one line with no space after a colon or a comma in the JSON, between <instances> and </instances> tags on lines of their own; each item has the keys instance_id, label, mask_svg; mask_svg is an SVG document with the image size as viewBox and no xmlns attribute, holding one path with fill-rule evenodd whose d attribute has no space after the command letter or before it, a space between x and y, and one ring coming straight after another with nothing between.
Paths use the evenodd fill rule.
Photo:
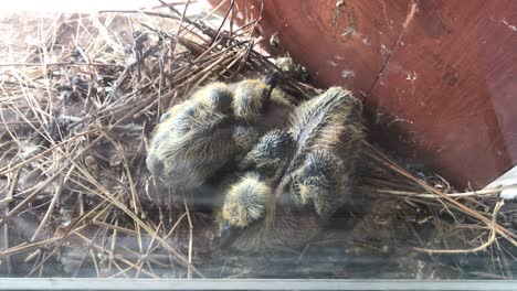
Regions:
<instances>
[{"instance_id":1,"label":"pale narrow metal ledge running along the bottom edge","mask_svg":"<svg viewBox=\"0 0 517 291\"><path fill-rule=\"evenodd\" d=\"M0 290L517 290L517 281L0 278Z\"/></svg>"}]
</instances>

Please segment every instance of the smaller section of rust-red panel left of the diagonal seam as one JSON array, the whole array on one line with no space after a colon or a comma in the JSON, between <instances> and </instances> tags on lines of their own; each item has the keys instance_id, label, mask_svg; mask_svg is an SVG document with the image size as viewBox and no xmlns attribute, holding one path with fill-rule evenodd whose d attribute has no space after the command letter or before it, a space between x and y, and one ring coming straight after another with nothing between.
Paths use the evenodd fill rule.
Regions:
<instances>
[{"instance_id":1,"label":"smaller section of rust-red panel left of the diagonal seam","mask_svg":"<svg viewBox=\"0 0 517 291\"><path fill-rule=\"evenodd\" d=\"M261 2L236 1L235 18L255 19ZM267 39L276 33L279 45L270 52L288 53L310 68L316 83L341 84L366 95L402 31L410 1L341 2L265 0L258 32Z\"/></svg>"}]
</instances>

